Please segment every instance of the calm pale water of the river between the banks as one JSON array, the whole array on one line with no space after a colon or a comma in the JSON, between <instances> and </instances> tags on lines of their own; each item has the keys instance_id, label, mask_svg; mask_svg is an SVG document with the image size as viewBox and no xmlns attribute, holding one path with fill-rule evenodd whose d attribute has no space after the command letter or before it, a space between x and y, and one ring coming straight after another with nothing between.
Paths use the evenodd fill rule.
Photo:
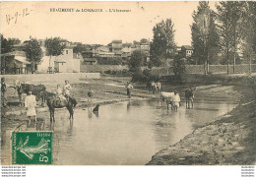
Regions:
<instances>
[{"instance_id":1,"label":"calm pale water of the river between the banks","mask_svg":"<svg viewBox=\"0 0 256 177\"><path fill-rule=\"evenodd\" d=\"M198 101L194 109L181 106L175 112L167 110L165 102L131 100L100 106L100 119L94 119L97 115L92 107L76 109L74 120L59 110L55 125L46 119L46 127L54 130L58 142L54 144L54 164L146 164L160 149L234 106Z\"/></svg>"}]
</instances>

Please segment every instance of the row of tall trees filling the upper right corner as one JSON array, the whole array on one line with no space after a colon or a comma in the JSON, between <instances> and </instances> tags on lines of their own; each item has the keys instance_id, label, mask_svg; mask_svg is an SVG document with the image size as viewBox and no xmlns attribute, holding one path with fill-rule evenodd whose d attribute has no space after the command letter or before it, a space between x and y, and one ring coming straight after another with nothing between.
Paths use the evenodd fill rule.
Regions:
<instances>
[{"instance_id":1,"label":"row of tall trees filling the upper right corner","mask_svg":"<svg viewBox=\"0 0 256 177\"><path fill-rule=\"evenodd\" d=\"M221 1L216 7L214 12L208 2L199 2L197 12L193 13L194 56L204 62L207 74L209 63L221 53L227 74L229 64L233 65L234 73L237 53L242 53L251 65L256 52L256 2Z\"/></svg>"}]
</instances>

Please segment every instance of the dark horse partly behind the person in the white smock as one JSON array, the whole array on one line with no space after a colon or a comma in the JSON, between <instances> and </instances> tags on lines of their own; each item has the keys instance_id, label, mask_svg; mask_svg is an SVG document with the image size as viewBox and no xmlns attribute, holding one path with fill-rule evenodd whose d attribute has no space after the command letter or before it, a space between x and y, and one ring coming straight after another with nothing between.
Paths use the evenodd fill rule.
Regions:
<instances>
[{"instance_id":1,"label":"dark horse partly behind the person in the white smock","mask_svg":"<svg viewBox=\"0 0 256 177\"><path fill-rule=\"evenodd\" d=\"M45 91L46 88L43 85L30 85L30 84L21 84L21 87L16 86L16 89L19 94L20 103L22 104L22 94L29 94L29 91L32 91L32 94L36 96L36 99L41 98L41 106L45 106ZM18 90L20 89L20 90Z\"/></svg>"}]
</instances>

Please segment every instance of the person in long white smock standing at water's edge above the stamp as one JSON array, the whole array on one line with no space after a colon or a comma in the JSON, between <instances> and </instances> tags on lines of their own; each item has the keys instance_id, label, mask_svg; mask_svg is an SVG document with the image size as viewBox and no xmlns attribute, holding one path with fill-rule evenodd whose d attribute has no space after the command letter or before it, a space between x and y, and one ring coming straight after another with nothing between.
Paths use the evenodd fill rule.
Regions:
<instances>
[{"instance_id":1,"label":"person in long white smock standing at water's edge above the stamp","mask_svg":"<svg viewBox=\"0 0 256 177\"><path fill-rule=\"evenodd\" d=\"M32 95L32 91L29 91L28 96L25 98L25 107L27 110L27 116L28 118L31 118L34 116L35 121L36 121L36 111L35 111L35 107L36 107L36 100L35 100L35 96Z\"/></svg>"}]
</instances>

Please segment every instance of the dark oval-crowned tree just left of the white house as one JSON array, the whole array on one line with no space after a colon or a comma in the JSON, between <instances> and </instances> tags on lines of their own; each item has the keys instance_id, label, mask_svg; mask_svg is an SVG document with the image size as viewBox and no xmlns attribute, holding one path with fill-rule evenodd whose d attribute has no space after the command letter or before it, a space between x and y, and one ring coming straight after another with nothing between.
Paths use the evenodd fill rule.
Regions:
<instances>
[{"instance_id":1,"label":"dark oval-crowned tree just left of the white house","mask_svg":"<svg viewBox=\"0 0 256 177\"><path fill-rule=\"evenodd\" d=\"M24 51L27 60L32 63L32 70L34 71L34 64L40 62L42 58L42 50L38 41L35 38L31 38L25 45Z\"/></svg>"}]
</instances>

